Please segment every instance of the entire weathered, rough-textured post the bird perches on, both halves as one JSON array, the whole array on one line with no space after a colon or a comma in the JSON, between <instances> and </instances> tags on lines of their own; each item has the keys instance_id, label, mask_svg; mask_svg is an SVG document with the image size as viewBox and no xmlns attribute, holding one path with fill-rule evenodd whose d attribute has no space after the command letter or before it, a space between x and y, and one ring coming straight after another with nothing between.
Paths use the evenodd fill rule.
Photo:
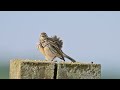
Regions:
<instances>
[{"instance_id":1,"label":"entire weathered, rough-textured post the bird perches on, both halves","mask_svg":"<svg viewBox=\"0 0 120 90\"><path fill-rule=\"evenodd\" d=\"M100 64L11 60L10 79L100 79Z\"/></svg>"}]
</instances>

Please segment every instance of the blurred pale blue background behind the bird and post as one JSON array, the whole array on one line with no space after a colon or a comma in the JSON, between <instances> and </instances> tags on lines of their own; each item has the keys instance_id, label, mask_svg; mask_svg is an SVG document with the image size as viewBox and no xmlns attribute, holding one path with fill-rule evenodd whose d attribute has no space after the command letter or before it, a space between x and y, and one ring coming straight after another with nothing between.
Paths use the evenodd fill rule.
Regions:
<instances>
[{"instance_id":1,"label":"blurred pale blue background behind the bird and post","mask_svg":"<svg viewBox=\"0 0 120 90\"><path fill-rule=\"evenodd\" d=\"M1 11L0 79L9 79L11 59L44 60L36 48L41 32L61 37L76 61L101 64L103 79L120 79L118 11Z\"/></svg>"}]
</instances>

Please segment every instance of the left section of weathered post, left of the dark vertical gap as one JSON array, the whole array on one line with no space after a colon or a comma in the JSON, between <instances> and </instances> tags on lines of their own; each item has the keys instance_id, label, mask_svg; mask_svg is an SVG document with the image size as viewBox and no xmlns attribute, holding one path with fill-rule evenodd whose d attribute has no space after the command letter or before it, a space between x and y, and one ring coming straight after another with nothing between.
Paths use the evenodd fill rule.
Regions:
<instances>
[{"instance_id":1,"label":"left section of weathered post, left of the dark vertical gap","mask_svg":"<svg viewBox=\"0 0 120 90\"><path fill-rule=\"evenodd\" d=\"M53 79L54 64L43 60L11 60L10 79Z\"/></svg>"}]
</instances>

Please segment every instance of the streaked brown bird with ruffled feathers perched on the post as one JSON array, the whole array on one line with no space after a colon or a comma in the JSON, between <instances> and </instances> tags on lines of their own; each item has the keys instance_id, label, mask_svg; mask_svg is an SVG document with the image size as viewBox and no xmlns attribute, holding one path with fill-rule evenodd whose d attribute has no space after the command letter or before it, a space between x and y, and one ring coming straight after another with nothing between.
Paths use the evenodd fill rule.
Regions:
<instances>
[{"instance_id":1,"label":"streaked brown bird with ruffled feathers perched on the post","mask_svg":"<svg viewBox=\"0 0 120 90\"><path fill-rule=\"evenodd\" d=\"M65 61L65 58L68 58L72 62L76 62L73 58L62 51L62 47L63 41L56 35L48 37L45 32L40 34L37 48L45 56L46 60L53 61L56 57L58 57L63 61Z\"/></svg>"}]
</instances>

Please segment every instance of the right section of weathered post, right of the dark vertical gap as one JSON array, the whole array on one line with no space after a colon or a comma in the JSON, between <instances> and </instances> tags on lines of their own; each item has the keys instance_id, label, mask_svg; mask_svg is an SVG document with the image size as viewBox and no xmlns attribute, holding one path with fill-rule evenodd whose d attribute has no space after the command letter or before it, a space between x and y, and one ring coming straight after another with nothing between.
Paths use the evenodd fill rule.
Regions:
<instances>
[{"instance_id":1,"label":"right section of weathered post, right of the dark vertical gap","mask_svg":"<svg viewBox=\"0 0 120 90\"><path fill-rule=\"evenodd\" d=\"M100 79L100 64L59 63L57 79Z\"/></svg>"}]
</instances>

